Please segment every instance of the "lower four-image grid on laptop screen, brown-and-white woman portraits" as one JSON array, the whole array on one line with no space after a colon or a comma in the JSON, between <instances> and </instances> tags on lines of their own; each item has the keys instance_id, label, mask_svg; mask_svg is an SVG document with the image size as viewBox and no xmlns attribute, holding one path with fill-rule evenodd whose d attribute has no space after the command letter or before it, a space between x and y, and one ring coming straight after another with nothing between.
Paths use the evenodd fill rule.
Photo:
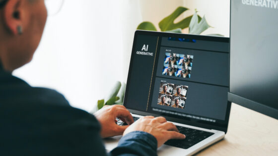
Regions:
<instances>
[{"instance_id":1,"label":"lower four-image grid on laptop screen, brown-and-white woman portraits","mask_svg":"<svg viewBox=\"0 0 278 156\"><path fill-rule=\"evenodd\" d=\"M161 82L157 104L184 109L187 91L188 86Z\"/></svg>"}]
</instances>

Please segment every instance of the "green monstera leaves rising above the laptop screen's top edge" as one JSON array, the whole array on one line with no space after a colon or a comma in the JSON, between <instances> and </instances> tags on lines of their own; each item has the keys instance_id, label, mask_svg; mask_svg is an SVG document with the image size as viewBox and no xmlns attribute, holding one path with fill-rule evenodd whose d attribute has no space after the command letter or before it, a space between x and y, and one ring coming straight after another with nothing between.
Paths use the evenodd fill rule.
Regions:
<instances>
[{"instance_id":1,"label":"green monstera leaves rising above the laptop screen's top edge","mask_svg":"<svg viewBox=\"0 0 278 156\"><path fill-rule=\"evenodd\" d=\"M202 18L197 14L197 10L191 16L188 16L178 23L174 23L175 19L179 17L183 12L188 10L186 7L179 6L172 14L162 19L158 26L163 32L174 32L174 33L182 33L182 29L189 27L189 34L200 35L202 32L210 28L205 16ZM137 27L138 30L150 30L157 31L155 26L148 21L142 22ZM223 36L219 34L211 34L213 36Z\"/></svg>"}]
</instances>

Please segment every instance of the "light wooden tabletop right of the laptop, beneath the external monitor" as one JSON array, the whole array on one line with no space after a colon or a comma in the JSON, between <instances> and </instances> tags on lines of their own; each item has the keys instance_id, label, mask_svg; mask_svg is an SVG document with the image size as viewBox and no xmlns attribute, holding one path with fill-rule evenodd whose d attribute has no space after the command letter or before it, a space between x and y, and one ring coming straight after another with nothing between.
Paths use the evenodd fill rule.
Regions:
<instances>
[{"instance_id":1,"label":"light wooden tabletop right of the laptop, beneath the external monitor","mask_svg":"<svg viewBox=\"0 0 278 156\"><path fill-rule=\"evenodd\" d=\"M278 156L278 120L232 104L225 138L196 156Z\"/></svg>"}]
</instances>

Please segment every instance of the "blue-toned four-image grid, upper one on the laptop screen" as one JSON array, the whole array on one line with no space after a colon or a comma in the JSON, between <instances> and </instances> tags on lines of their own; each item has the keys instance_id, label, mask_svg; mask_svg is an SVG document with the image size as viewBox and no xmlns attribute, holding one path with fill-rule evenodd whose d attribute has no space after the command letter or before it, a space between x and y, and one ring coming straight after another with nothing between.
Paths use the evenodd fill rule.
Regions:
<instances>
[{"instance_id":1,"label":"blue-toned four-image grid, upper one on the laptop screen","mask_svg":"<svg viewBox=\"0 0 278 156\"><path fill-rule=\"evenodd\" d=\"M162 75L190 78L193 55L165 53Z\"/></svg>"}]
</instances>

